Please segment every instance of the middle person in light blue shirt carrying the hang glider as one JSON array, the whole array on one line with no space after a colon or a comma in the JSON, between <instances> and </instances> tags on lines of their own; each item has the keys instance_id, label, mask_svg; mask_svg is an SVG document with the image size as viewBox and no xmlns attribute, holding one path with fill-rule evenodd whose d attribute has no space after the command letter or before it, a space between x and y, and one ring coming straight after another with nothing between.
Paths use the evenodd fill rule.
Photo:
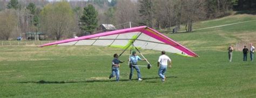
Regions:
<instances>
[{"instance_id":1,"label":"middle person in light blue shirt carrying the hang glider","mask_svg":"<svg viewBox=\"0 0 256 98\"><path fill-rule=\"evenodd\" d=\"M133 69L135 68L137 73L138 73L138 80L142 81L142 76L140 75L139 67L137 66L138 60L145 61L145 59L140 59L140 57L136 54L136 51L132 52L132 56L130 57L130 76L129 79L132 80L132 74L133 74Z\"/></svg>"}]
</instances>

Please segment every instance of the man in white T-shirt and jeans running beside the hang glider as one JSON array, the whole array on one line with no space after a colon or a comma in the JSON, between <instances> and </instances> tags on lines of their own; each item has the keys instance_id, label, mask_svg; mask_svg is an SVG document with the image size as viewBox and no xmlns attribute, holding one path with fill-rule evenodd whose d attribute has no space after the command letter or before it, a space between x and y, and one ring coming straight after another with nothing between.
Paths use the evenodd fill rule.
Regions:
<instances>
[{"instance_id":1,"label":"man in white T-shirt and jeans running beside the hang glider","mask_svg":"<svg viewBox=\"0 0 256 98\"><path fill-rule=\"evenodd\" d=\"M165 81L165 72L166 72L167 66L169 65L170 68L172 67L171 62L172 60L167 55L165 55L165 51L162 51L157 63L158 67L160 65L158 70L158 75L160 76L162 82Z\"/></svg>"}]
</instances>

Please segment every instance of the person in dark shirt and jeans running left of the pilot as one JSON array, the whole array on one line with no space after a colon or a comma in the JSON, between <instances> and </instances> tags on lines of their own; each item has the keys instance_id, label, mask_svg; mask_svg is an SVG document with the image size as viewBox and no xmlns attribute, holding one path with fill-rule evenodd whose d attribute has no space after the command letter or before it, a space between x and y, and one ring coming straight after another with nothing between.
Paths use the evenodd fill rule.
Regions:
<instances>
[{"instance_id":1,"label":"person in dark shirt and jeans running left of the pilot","mask_svg":"<svg viewBox=\"0 0 256 98\"><path fill-rule=\"evenodd\" d=\"M120 61L118 59L118 54L114 54L114 59L112 60L112 73L109 76L109 79L113 78L115 75L117 76L116 80L119 81L119 63L123 63L124 61Z\"/></svg>"}]
</instances>

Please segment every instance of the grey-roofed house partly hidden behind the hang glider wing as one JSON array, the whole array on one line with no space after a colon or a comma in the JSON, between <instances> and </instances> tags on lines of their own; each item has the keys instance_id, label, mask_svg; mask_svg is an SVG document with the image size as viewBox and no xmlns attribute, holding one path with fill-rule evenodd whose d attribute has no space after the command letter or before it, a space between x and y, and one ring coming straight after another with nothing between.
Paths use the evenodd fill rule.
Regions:
<instances>
[{"instance_id":1,"label":"grey-roofed house partly hidden behind the hang glider wing","mask_svg":"<svg viewBox=\"0 0 256 98\"><path fill-rule=\"evenodd\" d=\"M96 33L101 33L101 32L107 32L107 31L114 31L117 30L116 27L112 24L101 24L98 28Z\"/></svg>"}]
</instances>

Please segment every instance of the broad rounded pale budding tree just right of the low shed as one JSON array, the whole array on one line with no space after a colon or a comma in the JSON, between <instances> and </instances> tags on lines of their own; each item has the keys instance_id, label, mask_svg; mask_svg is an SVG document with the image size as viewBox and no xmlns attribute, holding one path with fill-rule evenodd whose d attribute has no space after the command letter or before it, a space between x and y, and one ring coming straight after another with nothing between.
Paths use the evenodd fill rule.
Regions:
<instances>
[{"instance_id":1,"label":"broad rounded pale budding tree just right of the low shed","mask_svg":"<svg viewBox=\"0 0 256 98\"><path fill-rule=\"evenodd\" d=\"M67 37L72 33L72 26L75 24L73 17L68 2L48 4L41 12L42 30L52 39Z\"/></svg>"}]
</instances>

